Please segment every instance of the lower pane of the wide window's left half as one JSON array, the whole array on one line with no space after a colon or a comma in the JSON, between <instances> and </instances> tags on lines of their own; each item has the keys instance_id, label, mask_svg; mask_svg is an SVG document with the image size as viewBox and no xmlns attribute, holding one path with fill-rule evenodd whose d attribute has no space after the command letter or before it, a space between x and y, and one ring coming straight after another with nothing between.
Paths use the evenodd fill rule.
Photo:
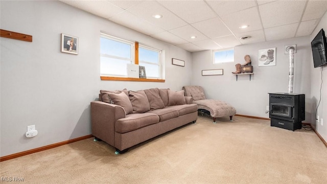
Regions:
<instances>
[{"instance_id":1,"label":"lower pane of the wide window's left half","mask_svg":"<svg viewBox=\"0 0 327 184\"><path fill-rule=\"evenodd\" d=\"M100 74L127 76L127 63L131 62L126 60L101 57Z\"/></svg>"}]
</instances>

